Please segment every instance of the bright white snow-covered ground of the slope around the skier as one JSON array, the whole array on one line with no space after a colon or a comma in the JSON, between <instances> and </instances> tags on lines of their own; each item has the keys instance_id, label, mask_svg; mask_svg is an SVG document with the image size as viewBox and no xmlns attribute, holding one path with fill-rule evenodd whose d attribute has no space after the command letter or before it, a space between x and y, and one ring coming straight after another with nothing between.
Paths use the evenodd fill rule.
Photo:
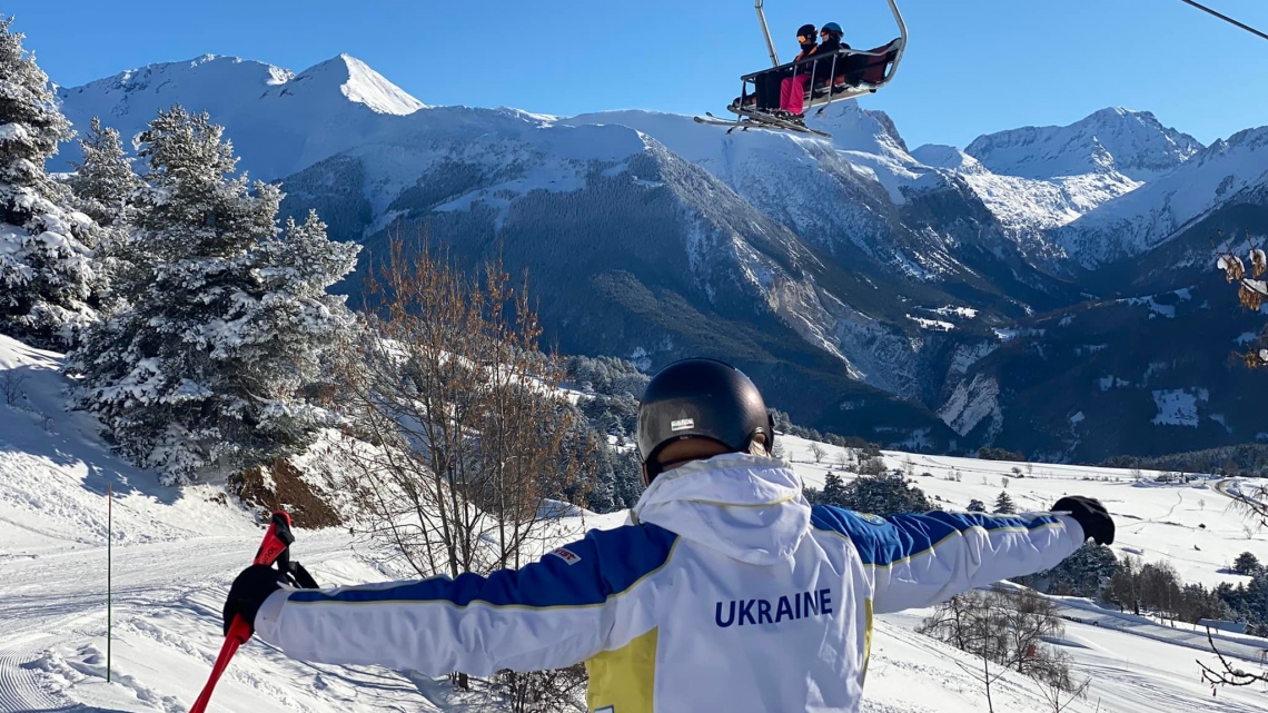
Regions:
<instances>
[{"instance_id":1,"label":"bright white snow-covered ground of the slope around the skier","mask_svg":"<svg viewBox=\"0 0 1268 713\"><path fill-rule=\"evenodd\" d=\"M219 647L219 606L232 576L251 557L261 529L222 499L217 485L181 492L160 486L153 474L131 468L109 454L94 435L94 424L67 414L60 358L0 337L0 379L27 381L14 406L0 400L0 713L57 710L75 713L181 713L203 684ZM812 483L823 466L809 463L809 443L787 438L789 455ZM825 447L833 461L833 449ZM886 453L894 467L908 458ZM956 467L961 482L921 480L929 495L948 506L970 497L993 501L1009 463L912 455L917 472ZM969 468L983 472L973 472ZM1025 467L1025 466L1022 466ZM1085 483L1075 477L1014 481L1009 494L1023 507L1038 507L1064 491L1103 497L1125 523L1127 547L1163 556L1186 556L1186 577L1232 579L1217 568L1238 552L1263 547L1263 535L1246 542L1240 519L1225 511L1212 491L1135 488L1126 482ZM1127 478L1121 471L1092 471ZM1037 473L1036 473L1037 474ZM107 482L119 494L114 523L114 676L104 679L105 657L105 499ZM1179 497L1178 497L1179 495ZM1197 509L1205 499L1206 507ZM962 501L962 502L961 502ZM1173 509L1172 505L1175 505ZM1193 510L1193 511L1191 511ZM1131 520L1131 518L1139 520ZM1207 530L1201 552L1186 552L1189 540L1168 535L1165 521L1202 518ZM1126 519L1126 520L1123 520ZM623 515L577 518L569 525L615 527ZM1132 523L1136 523L1134 527ZM1192 534L1192 533L1191 533ZM354 552L351 537L339 529L299 532L295 556L322 582L377 581L384 577ZM1196 537L1196 535L1193 535ZM1173 552L1174 551L1174 552ZM1177 561L1177 567L1182 561ZM1210 570L1210 572L1207 572ZM1063 604L1070 617L1117 619L1087 603ZM924 612L886 615L877 622L864 709L874 713L976 713L985 709L980 684L961 670L976 661L912 628ZM1068 623L1058 642L1074 658L1080 676L1093 676L1087 702L1071 710L1241 713L1268 709L1268 693L1221 690L1217 697L1198 683L1188 642L1169 641L1186 632L1149 620L1125 619L1125 631ZM1197 636L1187 632L1191 637ZM1268 641L1240 637L1239 653L1253 655ZM1041 713L1038 688L1007 674L993 689L995 709ZM217 690L217 712L360 713L382 710L455 712L483 708L481 691L454 694L448 683L374 667L317 666L281 657L260 642L235 658Z\"/></svg>"}]
</instances>

